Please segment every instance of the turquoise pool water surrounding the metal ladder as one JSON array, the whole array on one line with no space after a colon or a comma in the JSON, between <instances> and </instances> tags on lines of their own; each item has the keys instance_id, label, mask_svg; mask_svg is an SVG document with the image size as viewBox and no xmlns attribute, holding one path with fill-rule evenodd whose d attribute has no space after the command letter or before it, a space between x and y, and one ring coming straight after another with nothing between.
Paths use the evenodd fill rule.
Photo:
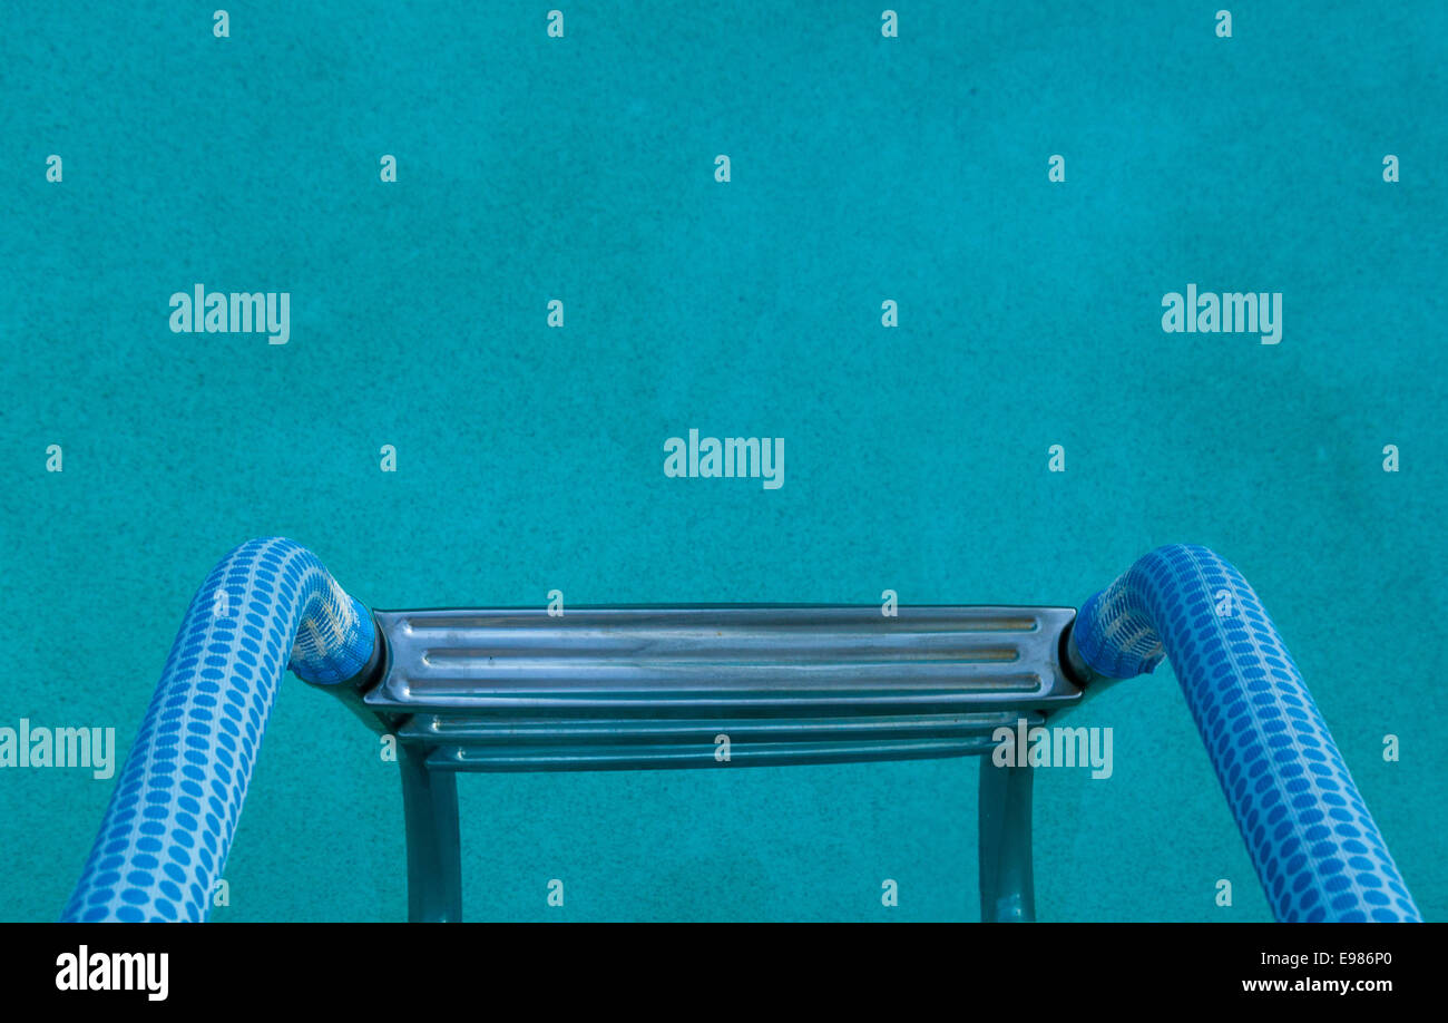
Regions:
<instances>
[{"instance_id":1,"label":"turquoise pool water surrounding the metal ladder","mask_svg":"<svg viewBox=\"0 0 1448 1023\"><path fill-rule=\"evenodd\" d=\"M376 607L1079 606L1189 540L1442 919L1444 6L546 7L4 4L0 727L120 756L258 535ZM197 283L288 293L288 343L172 332ZM1281 342L1163 332L1189 284ZM691 427L785 484L666 478ZM1267 919L1170 669L1074 723L1115 769L1038 780L1040 916ZM975 919L976 771L465 777L465 914ZM214 919L401 919L395 774L288 680ZM110 785L0 769L0 919L59 914Z\"/></svg>"}]
</instances>

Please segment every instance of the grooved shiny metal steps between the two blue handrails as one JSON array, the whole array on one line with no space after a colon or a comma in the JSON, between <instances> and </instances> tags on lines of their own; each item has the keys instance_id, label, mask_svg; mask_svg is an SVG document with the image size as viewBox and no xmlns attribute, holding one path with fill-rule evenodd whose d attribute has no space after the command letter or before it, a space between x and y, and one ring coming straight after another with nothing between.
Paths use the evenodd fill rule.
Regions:
<instances>
[{"instance_id":1,"label":"grooved shiny metal steps between the two blue handrails","mask_svg":"<svg viewBox=\"0 0 1448 1023\"><path fill-rule=\"evenodd\" d=\"M1061 668L1073 619L970 606L376 611L388 662L363 703L439 771L964 756L1080 698Z\"/></svg>"}]
</instances>

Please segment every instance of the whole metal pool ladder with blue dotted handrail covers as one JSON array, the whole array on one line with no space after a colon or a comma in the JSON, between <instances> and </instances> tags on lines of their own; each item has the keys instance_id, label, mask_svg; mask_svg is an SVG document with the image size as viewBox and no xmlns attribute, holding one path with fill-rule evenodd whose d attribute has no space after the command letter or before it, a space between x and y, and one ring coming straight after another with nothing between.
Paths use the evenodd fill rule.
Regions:
<instances>
[{"instance_id":1,"label":"whole metal pool ladder with blue dotted handrail covers","mask_svg":"<svg viewBox=\"0 0 1448 1023\"><path fill-rule=\"evenodd\" d=\"M1173 543L1070 607L372 611L248 540L187 607L62 919L204 920L287 669L395 736L408 917L462 917L456 775L985 755L980 907L1035 916L1031 772L993 752L1170 659L1273 916L1420 920L1257 593ZM1054 743L1053 743L1054 745Z\"/></svg>"}]
</instances>

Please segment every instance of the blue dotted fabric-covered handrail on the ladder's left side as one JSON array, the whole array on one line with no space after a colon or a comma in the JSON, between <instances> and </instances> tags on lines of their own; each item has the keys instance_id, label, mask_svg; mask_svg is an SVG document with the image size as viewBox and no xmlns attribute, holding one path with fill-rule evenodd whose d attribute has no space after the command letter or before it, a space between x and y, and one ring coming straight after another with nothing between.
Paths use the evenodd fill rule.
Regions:
<instances>
[{"instance_id":1,"label":"blue dotted fabric-covered handrail on the ladder's left side","mask_svg":"<svg viewBox=\"0 0 1448 1023\"><path fill-rule=\"evenodd\" d=\"M277 685L356 675L371 613L310 551L249 540L187 609L62 920L207 917Z\"/></svg>"}]
</instances>

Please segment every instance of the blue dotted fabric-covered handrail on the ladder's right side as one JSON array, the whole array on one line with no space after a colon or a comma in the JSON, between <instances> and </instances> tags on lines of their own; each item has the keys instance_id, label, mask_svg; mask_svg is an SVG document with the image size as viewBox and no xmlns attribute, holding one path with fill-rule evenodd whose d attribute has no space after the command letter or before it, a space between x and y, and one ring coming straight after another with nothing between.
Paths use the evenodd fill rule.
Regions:
<instances>
[{"instance_id":1,"label":"blue dotted fabric-covered handrail on the ladder's right side","mask_svg":"<svg viewBox=\"0 0 1448 1023\"><path fill-rule=\"evenodd\" d=\"M1086 601L1074 635L1111 678L1170 658L1277 920L1422 919L1297 665L1232 565L1202 546L1158 548Z\"/></svg>"}]
</instances>

